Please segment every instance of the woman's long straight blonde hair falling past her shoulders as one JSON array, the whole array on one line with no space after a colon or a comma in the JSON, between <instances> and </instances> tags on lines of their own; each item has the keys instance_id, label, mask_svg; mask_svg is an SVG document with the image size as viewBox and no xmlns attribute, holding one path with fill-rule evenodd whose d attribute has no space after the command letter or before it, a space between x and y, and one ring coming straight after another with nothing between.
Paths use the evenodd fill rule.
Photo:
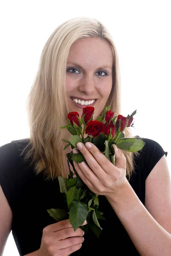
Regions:
<instances>
[{"instance_id":1,"label":"woman's long straight blonde hair falling past her shoulders","mask_svg":"<svg viewBox=\"0 0 171 256\"><path fill-rule=\"evenodd\" d=\"M113 53L113 84L106 105L111 106L115 116L120 113L120 78L116 47L106 27L99 21L89 17L75 17L59 25L47 40L39 62L35 81L26 101L30 137L24 160L33 164L35 173L43 172L46 179L54 180L58 176L65 177L65 157L63 150L68 140L67 125L69 113L65 79L67 58L71 45L80 38L101 38L106 40ZM70 134L71 135L71 134ZM131 136L130 128L125 130L125 137ZM134 171L134 158L138 152L123 151L126 157L126 170Z\"/></svg>"}]
</instances>

